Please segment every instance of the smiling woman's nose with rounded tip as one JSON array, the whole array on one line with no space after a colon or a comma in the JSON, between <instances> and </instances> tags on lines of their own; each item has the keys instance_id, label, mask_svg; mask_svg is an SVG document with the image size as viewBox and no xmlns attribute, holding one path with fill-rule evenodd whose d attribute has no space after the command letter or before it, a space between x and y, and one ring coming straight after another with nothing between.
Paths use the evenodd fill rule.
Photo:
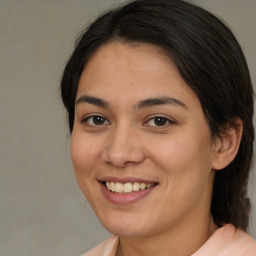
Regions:
<instances>
[{"instance_id":1,"label":"smiling woman's nose with rounded tip","mask_svg":"<svg viewBox=\"0 0 256 256\"><path fill-rule=\"evenodd\" d=\"M140 145L138 135L129 127L119 126L114 129L102 150L105 163L116 168L142 163L146 158L145 151Z\"/></svg>"}]
</instances>

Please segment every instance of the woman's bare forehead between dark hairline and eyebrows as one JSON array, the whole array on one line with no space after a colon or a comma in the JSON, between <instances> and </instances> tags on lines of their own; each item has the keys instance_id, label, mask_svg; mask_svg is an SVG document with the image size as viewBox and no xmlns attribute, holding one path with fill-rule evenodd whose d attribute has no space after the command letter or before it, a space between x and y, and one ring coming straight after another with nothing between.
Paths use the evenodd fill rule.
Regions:
<instances>
[{"instance_id":1,"label":"woman's bare forehead between dark hairline and eyebrows","mask_svg":"<svg viewBox=\"0 0 256 256\"><path fill-rule=\"evenodd\" d=\"M141 43L110 42L101 46L80 78L77 98L83 94L123 101L166 95L198 101L164 50Z\"/></svg>"}]
</instances>

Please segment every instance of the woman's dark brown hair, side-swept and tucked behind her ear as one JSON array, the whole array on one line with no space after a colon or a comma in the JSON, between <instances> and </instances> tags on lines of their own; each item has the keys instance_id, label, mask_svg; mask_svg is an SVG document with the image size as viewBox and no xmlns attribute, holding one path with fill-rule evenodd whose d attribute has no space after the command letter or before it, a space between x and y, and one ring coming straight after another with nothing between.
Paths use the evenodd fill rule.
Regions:
<instances>
[{"instance_id":1,"label":"woman's dark brown hair, side-swept and tucked behind her ear","mask_svg":"<svg viewBox=\"0 0 256 256\"><path fill-rule=\"evenodd\" d=\"M235 159L216 171L211 212L219 225L246 229L247 183L253 156L253 89L241 47L230 29L206 10L181 0L137 0L106 12L80 36L63 73L61 95L72 133L77 87L92 54L111 41L161 47L197 94L213 136L239 117L243 135Z\"/></svg>"}]
</instances>

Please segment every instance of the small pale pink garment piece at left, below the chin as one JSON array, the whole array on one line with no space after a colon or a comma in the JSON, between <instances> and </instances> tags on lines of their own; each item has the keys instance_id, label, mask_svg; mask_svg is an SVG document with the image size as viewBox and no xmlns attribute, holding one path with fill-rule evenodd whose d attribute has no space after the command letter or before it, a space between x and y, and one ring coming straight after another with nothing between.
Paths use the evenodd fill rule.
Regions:
<instances>
[{"instance_id":1,"label":"small pale pink garment piece at left, below the chin","mask_svg":"<svg viewBox=\"0 0 256 256\"><path fill-rule=\"evenodd\" d=\"M118 236L112 236L82 256L115 256L118 243Z\"/></svg>"}]
</instances>

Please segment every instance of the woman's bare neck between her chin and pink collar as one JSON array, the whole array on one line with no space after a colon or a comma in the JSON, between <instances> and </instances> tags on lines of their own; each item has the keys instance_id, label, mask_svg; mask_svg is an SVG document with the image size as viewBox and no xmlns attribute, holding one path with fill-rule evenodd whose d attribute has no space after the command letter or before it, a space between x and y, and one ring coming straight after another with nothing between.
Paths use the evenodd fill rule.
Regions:
<instances>
[{"instance_id":1,"label":"woman's bare neck between her chin and pink collar","mask_svg":"<svg viewBox=\"0 0 256 256\"><path fill-rule=\"evenodd\" d=\"M211 216L202 225L197 221L147 237L120 237L117 256L189 256L197 251L217 229ZM193 223L191 225L191 223Z\"/></svg>"}]
</instances>

